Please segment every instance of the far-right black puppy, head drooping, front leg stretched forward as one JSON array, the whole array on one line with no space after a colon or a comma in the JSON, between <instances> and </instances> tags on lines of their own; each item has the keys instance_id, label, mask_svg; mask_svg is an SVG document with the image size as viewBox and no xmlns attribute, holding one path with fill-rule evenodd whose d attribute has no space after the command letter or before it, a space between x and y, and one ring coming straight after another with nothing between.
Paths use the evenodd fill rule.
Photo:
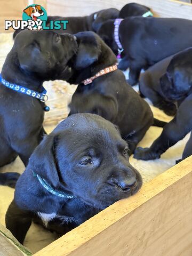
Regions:
<instances>
[{"instance_id":1,"label":"far-right black puppy, head drooping, front leg stretched forward","mask_svg":"<svg viewBox=\"0 0 192 256\"><path fill-rule=\"evenodd\" d=\"M161 89L166 98L180 100L173 120L166 124L162 134L150 148L137 148L134 157L149 160L161 156L168 148L182 140L192 130L192 47L175 55L161 78ZM182 159L192 155L191 137L183 152Z\"/></svg>"}]
</instances>

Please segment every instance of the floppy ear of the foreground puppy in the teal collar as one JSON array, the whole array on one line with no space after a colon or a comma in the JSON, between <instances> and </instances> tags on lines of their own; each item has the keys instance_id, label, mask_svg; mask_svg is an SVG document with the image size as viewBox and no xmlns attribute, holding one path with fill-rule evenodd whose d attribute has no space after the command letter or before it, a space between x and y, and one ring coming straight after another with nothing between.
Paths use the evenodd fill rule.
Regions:
<instances>
[{"instance_id":1,"label":"floppy ear of the foreground puppy in the teal collar","mask_svg":"<svg viewBox=\"0 0 192 256\"><path fill-rule=\"evenodd\" d=\"M28 169L33 170L55 188L58 187L60 183L57 170L57 160L55 159L57 140L57 135L45 135L42 142L31 155L27 166Z\"/></svg>"}]
</instances>

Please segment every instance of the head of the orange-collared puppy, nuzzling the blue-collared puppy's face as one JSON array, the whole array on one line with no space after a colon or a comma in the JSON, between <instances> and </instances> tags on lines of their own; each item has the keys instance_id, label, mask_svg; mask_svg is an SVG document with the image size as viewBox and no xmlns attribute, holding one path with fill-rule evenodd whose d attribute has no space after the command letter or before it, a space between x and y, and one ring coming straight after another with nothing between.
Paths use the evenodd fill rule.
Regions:
<instances>
[{"instance_id":1,"label":"head of the orange-collared puppy, nuzzling the blue-collared puppy's face","mask_svg":"<svg viewBox=\"0 0 192 256\"><path fill-rule=\"evenodd\" d=\"M101 69L115 65L115 55L97 34L86 31L75 36L78 50L69 63L74 70L73 76L68 80L70 84L81 83Z\"/></svg>"}]
</instances>

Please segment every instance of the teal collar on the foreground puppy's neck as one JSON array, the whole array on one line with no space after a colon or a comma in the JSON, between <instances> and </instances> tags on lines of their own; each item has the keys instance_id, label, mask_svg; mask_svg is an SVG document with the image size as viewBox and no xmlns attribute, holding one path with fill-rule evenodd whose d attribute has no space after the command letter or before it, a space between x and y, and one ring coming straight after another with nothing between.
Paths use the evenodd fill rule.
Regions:
<instances>
[{"instance_id":1,"label":"teal collar on the foreground puppy's neck","mask_svg":"<svg viewBox=\"0 0 192 256\"><path fill-rule=\"evenodd\" d=\"M49 191L51 194L53 194L53 195L55 195L55 196L67 198L67 199L74 198L74 196L71 196L71 195L67 194L67 193L64 192L64 191L54 189L45 179L43 179L41 176L39 176L36 172L33 172L33 174L34 174L34 177L36 177L37 180L41 183L41 185L42 185L47 191Z\"/></svg>"}]
</instances>

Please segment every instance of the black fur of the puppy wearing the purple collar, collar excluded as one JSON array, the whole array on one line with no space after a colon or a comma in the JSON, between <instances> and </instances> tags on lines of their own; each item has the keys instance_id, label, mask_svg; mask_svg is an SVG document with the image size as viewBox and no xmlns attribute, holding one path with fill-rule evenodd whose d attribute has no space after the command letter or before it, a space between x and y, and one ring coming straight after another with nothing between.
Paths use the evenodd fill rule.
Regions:
<instances>
[{"instance_id":1,"label":"black fur of the puppy wearing the purple collar, collar excluded","mask_svg":"<svg viewBox=\"0 0 192 256\"><path fill-rule=\"evenodd\" d=\"M129 83L138 83L140 71L169 57L192 44L192 21L174 18L131 17L119 25L119 39L124 58L119 68L130 68ZM102 24L98 35L115 54L118 47L114 39L114 20ZM185 40L183 40L185 38ZM176 43L177 42L177 43Z\"/></svg>"}]
</instances>

